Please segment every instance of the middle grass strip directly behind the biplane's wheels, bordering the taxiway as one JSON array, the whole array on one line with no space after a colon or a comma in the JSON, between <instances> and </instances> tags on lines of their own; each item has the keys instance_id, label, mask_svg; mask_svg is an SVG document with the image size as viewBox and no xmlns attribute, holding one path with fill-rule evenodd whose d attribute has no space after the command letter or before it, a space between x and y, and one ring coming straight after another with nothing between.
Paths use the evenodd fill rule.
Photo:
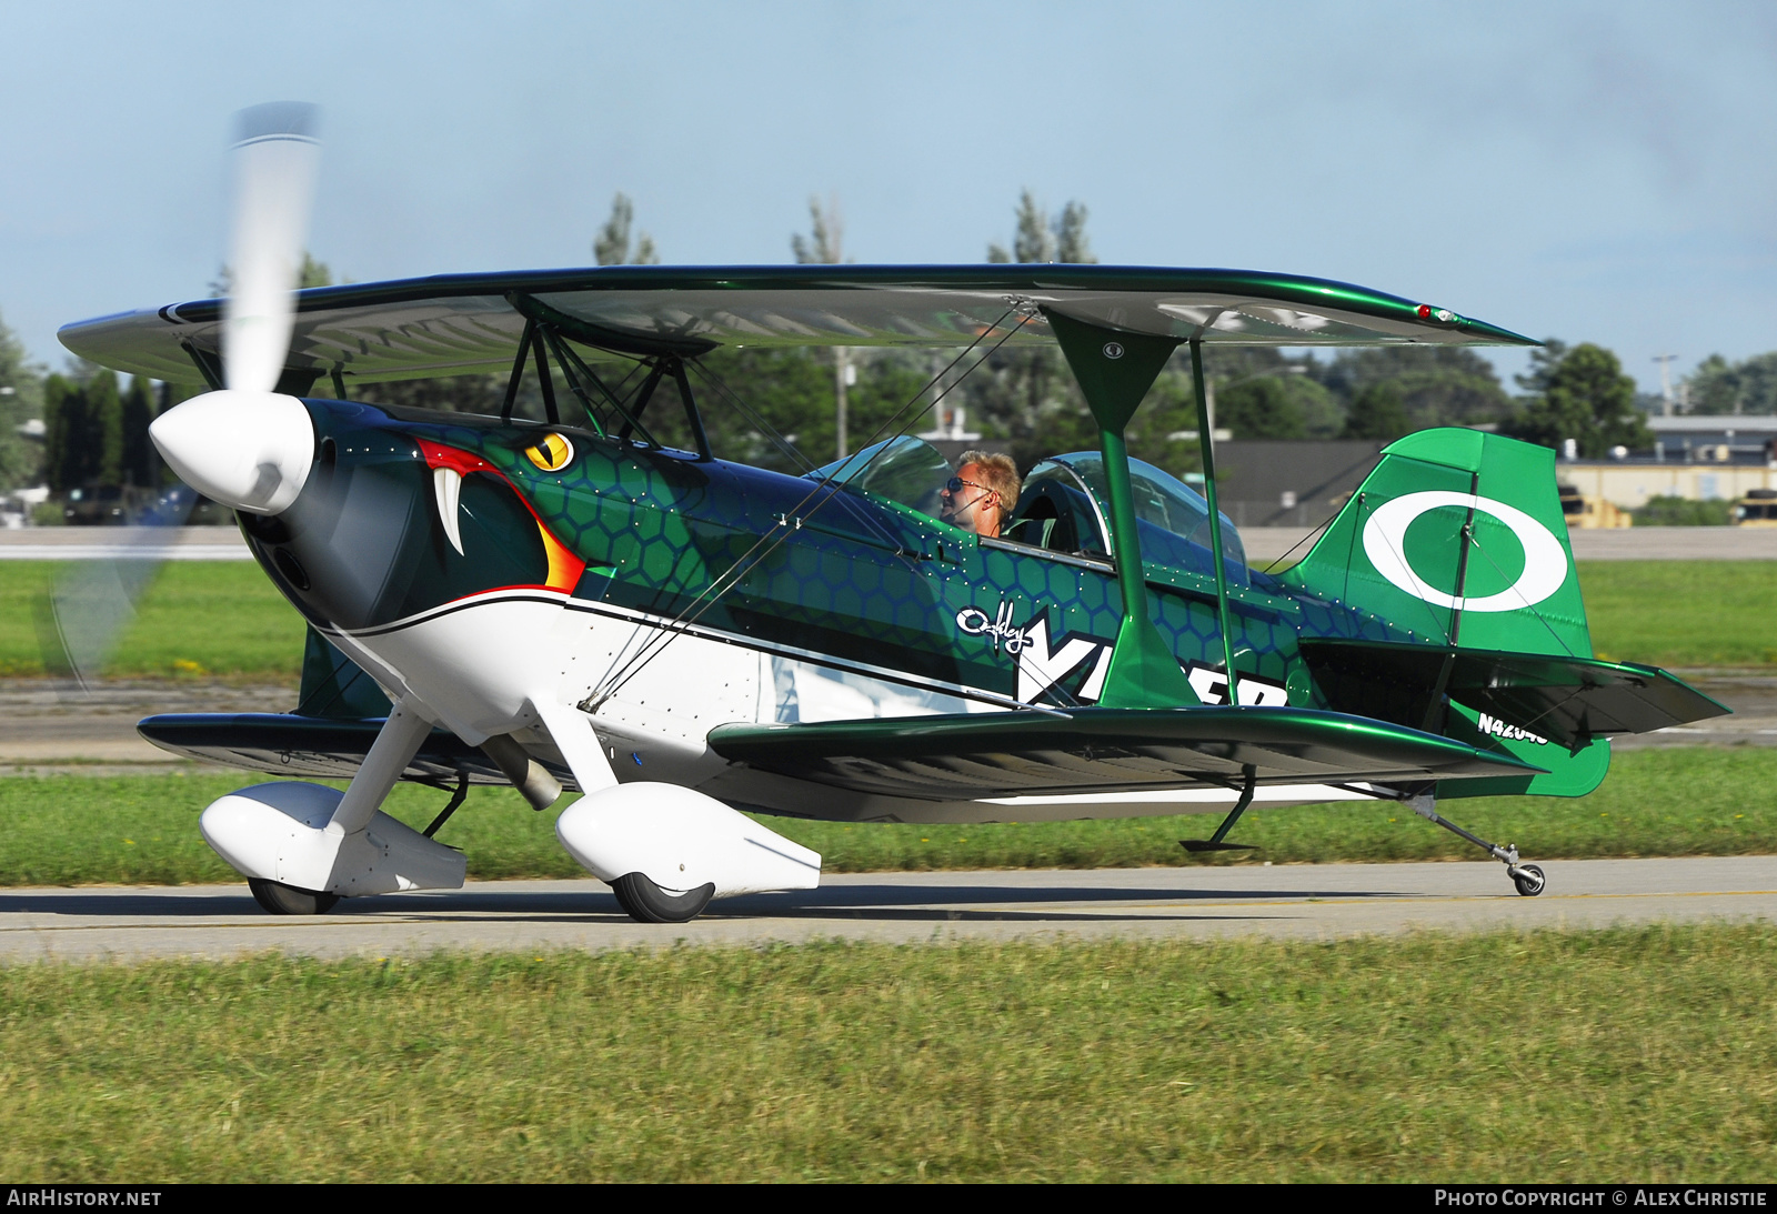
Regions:
<instances>
[{"instance_id":1,"label":"middle grass strip directly behind the biplane's wheels, bordering the taxiway","mask_svg":"<svg viewBox=\"0 0 1777 1214\"><path fill-rule=\"evenodd\" d=\"M0 885L238 882L197 834L211 800L247 775L0 779ZM1777 750L1681 748L1621 755L1580 800L1502 796L1443 809L1526 859L1777 853ZM389 811L425 827L444 795L402 786ZM563 798L562 805L569 802ZM439 832L469 876L585 876L554 837L554 811L531 812L512 789L478 789ZM1398 805L1303 805L1247 814L1235 843L1258 851L1192 857L1214 816L1121 818L988 827L841 825L764 819L825 859L828 873L977 867L1137 867L1333 860L1470 860L1480 851Z\"/></svg>"}]
</instances>

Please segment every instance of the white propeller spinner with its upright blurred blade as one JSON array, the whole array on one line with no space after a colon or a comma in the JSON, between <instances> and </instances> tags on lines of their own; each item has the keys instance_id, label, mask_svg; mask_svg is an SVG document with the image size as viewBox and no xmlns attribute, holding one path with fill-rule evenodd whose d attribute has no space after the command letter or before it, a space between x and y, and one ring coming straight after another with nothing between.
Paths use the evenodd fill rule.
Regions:
<instances>
[{"instance_id":1,"label":"white propeller spinner with its upright blurred blade","mask_svg":"<svg viewBox=\"0 0 1777 1214\"><path fill-rule=\"evenodd\" d=\"M315 460L309 411L272 389L295 323L320 167L318 114L302 101L272 101L236 116L233 283L222 313L227 387L192 396L149 427L179 480L247 514L290 507Z\"/></svg>"}]
</instances>

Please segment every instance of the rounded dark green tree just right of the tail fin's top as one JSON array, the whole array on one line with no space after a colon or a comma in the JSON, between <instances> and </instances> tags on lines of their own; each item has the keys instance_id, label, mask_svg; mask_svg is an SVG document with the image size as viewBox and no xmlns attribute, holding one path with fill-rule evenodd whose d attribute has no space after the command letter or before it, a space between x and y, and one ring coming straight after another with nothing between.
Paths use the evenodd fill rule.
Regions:
<instances>
[{"instance_id":1,"label":"rounded dark green tree just right of the tail fin's top","mask_svg":"<svg viewBox=\"0 0 1777 1214\"><path fill-rule=\"evenodd\" d=\"M1614 446L1654 444L1647 419L1635 409L1635 380L1599 345L1562 347L1558 355L1534 361L1525 382L1541 391L1502 427L1514 437L1557 450L1573 439L1585 459L1601 459Z\"/></svg>"}]
</instances>

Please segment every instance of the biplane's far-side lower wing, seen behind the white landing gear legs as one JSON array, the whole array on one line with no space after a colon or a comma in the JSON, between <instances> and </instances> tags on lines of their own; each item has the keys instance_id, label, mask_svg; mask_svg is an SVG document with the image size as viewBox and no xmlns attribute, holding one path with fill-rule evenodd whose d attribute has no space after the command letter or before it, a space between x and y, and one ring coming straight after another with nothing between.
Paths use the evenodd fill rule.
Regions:
<instances>
[{"instance_id":1,"label":"biplane's far-side lower wing, seen behind the white landing gear legs","mask_svg":"<svg viewBox=\"0 0 1777 1214\"><path fill-rule=\"evenodd\" d=\"M350 780L382 731L382 718L338 720L295 713L167 713L137 722L137 732L162 750L203 763L281 777ZM579 791L574 773L538 759L563 787ZM434 729L402 773L416 784L469 784L510 780L480 748L457 734Z\"/></svg>"}]
</instances>

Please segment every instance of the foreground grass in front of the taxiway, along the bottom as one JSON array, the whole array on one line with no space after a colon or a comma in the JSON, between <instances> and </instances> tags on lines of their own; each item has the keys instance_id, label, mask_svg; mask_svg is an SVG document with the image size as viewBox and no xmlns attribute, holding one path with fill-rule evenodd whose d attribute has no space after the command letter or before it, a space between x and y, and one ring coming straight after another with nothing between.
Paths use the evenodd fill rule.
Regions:
<instances>
[{"instance_id":1,"label":"foreground grass in front of the taxiway, along the bottom","mask_svg":"<svg viewBox=\"0 0 1777 1214\"><path fill-rule=\"evenodd\" d=\"M0 1173L1765 1182L1777 928L0 970Z\"/></svg>"}]
</instances>

